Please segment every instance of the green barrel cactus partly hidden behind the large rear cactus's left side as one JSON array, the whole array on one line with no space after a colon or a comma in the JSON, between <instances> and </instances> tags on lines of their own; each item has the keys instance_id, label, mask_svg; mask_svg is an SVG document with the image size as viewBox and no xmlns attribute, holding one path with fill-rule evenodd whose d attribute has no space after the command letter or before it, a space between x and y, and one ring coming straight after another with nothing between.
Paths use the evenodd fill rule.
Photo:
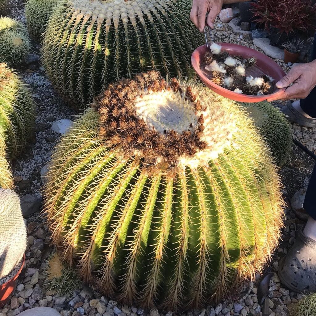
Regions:
<instances>
[{"instance_id":1,"label":"green barrel cactus partly hidden behind the large rear cactus's left side","mask_svg":"<svg viewBox=\"0 0 316 316\"><path fill-rule=\"evenodd\" d=\"M58 0L28 0L25 5L25 18L29 32L40 38L52 15Z\"/></svg>"}]
</instances>

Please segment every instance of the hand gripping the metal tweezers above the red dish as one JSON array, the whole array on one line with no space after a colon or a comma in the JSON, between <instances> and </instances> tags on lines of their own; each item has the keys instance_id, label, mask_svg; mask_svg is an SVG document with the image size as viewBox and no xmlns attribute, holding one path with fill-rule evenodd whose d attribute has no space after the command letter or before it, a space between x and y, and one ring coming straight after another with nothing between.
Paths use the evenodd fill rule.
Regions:
<instances>
[{"instance_id":1,"label":"hand gripping the metal tweezers above the red dish","mask_svg":"<svg viewBox=\"0 0 316 316\"><path fill-rule=\"evenodd\" d=\"M210 28L214 28L216 16L221 12L223 0L193 0L190 19L194 25L203 32L205 27L206 13L208 12L206 23Z\"/></svg>"}]
</instances>

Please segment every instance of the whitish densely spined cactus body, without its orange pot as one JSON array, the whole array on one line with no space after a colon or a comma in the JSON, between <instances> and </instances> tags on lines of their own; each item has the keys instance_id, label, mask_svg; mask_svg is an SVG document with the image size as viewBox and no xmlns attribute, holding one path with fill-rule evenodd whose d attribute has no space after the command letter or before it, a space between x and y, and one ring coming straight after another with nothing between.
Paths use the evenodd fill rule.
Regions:
<instances>
[{"instance_id":1,"label":"whitish densely spined cactus body, without its orange pot","mask_svg":"<svg viewBox=\"0 0 316 316\"><path fill-rule=\"evenodd\" d=\"M26 248L26 226L15 192L0 189L0 278L20 262Z\"/></svg>"}]
</instances>

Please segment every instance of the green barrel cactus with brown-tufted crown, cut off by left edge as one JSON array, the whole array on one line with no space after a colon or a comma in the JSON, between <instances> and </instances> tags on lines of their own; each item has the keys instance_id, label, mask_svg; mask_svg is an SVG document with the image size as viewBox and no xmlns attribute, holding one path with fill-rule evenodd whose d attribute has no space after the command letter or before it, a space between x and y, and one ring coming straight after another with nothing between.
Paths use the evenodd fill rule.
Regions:
<instances>
[{"instance_id":1,"label":"green barrel cactus with brown-tufted crown, cut off by left edge","mask_svg":"<svg viewBox=\"0 0 316 316\"><path fill-rule=\"evenodd\" d=\"M0 64L0 143L9 158L18 155L32 135L35 111L26 84L6 64Z\"/></svg>"}]
</instances>

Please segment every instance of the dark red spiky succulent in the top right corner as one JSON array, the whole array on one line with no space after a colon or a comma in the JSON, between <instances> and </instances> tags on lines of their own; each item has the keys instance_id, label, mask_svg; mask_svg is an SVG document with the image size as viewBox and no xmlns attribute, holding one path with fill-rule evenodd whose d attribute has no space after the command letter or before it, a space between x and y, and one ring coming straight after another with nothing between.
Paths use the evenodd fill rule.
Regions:
<instances>
[{"instance_id":1,"label":"dark red spiky succulent in the top right corner","mask_svg":"<svg viewBox=\"0 0 316 316\"><path fill-rule=\"evenodd\" d=\"M316 5L310 0L258 0L252 6L255 22L265 29L275 27L279 33L316 30Z\"/></svg>"}]
</instances>

